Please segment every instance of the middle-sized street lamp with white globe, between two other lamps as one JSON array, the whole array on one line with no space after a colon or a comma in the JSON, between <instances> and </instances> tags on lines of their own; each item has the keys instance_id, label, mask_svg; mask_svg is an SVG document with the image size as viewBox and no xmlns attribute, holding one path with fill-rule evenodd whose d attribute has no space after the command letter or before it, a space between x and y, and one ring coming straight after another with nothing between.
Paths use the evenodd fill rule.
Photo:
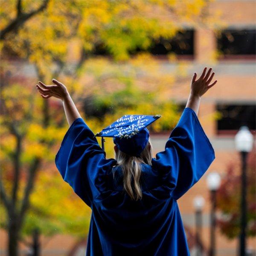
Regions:
<instances>
[{"instance_id":1,"label":"middle-sized street lamp with white globe, between two other lamps","mask_svg":"<svg viewBox=\"0 0 256 256\"><path fill-rule=\"evenodd\" d=\"M216 209L216 191L221 184L221 177L217 172L210 172L207 175L207 186L211 192L211 227L210 227L210 251L209 256L215 255L215 209Z\"/></svg>"}]
</instances>

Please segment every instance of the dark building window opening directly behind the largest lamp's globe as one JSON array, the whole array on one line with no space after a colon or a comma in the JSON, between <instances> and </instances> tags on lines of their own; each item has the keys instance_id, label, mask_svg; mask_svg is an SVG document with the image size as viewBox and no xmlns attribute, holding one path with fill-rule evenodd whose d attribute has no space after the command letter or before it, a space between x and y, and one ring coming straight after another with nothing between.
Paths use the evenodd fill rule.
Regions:
<instances>
[{"instance_id":1,"label":"dark building window opening directly behind the largest lamp's globe","mask_svg":"<svg viewBox=\"0 0 256 256\"><path fill-rule=\"evenodd\" d=\"M256 105L218 104L217 111L221 118L217 120L217 133L236 134L242 125L251 131L256 130Z\"/></svg>"}]
</instances>

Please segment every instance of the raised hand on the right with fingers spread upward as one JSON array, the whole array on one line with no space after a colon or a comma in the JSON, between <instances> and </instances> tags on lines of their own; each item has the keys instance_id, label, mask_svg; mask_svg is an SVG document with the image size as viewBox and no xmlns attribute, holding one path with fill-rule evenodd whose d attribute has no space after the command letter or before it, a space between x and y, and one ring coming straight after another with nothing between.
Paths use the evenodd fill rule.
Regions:
<instances>
[{"instance_id":1,"label":"raised hand on the right with fingers spread upward","mask_svg":"<svg viewBox=\"0 0 256 256\"><path fill-rule=\"evenodd\" d=\"M214 84L217 83L217 80L215 80L212 84L210 84L215 72L212 72L212 74L210 75L212 68L211 67L209 68L207 74L206 74L206 70L207 70L207 67L204 68L198 80L195 80L197 74L194 73L192 77L191 85L190 85L190 94L192 96L201 97L204 93L207 92L207 90L209 90L209 88L211 88Z\"/></svg>"}]
</instances>

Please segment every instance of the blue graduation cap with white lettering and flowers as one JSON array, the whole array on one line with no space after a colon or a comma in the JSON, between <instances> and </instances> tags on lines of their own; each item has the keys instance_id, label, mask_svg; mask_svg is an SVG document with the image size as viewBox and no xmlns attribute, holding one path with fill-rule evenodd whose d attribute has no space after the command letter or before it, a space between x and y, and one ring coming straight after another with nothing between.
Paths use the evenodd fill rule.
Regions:
<instances>
[{"instance_id":1,"label":"blue graduation cap with white lettering and flowers","mask_svg":"<svg viewBox=\"0 0 256 256\"><path fill-rule=\"evenodd\" d=\"M139 157L148 143L149 131L146 127L160 117L160 115L125 115L94 136L102 137L103 150L104 137L113 137L113 142L120 151Z\"/></svg>"}]
</instances>

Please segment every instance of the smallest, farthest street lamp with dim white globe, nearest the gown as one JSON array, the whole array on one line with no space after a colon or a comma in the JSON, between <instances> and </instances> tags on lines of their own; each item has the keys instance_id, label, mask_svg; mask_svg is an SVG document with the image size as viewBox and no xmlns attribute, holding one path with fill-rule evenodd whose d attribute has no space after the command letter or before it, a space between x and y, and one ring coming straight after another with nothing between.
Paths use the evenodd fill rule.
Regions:
<instances>
[{"instance_id":1,"label":"smallest, farthest street lamp with dim white globe, nearest the gown","mask_svg":"<svg viewBox=\"0 0 256 256\"><path fill-rule=\"evenodd\" d=\"M204 207L204 198L198 195L194 198L195 208L195 229L196 229L196 255L202 255L202 240L200 234L202 233L202 208Z\"/></svg>"}]
</instances>

